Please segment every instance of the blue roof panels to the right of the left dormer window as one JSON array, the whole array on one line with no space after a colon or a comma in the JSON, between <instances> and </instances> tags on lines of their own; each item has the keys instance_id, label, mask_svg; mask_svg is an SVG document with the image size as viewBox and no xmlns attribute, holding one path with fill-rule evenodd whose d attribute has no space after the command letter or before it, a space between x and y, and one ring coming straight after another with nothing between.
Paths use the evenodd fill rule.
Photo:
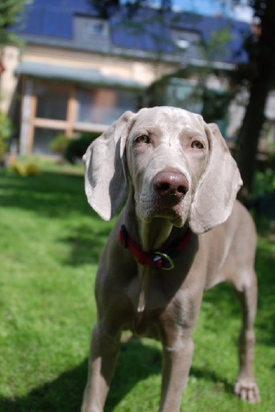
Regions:
<instances>
[{"instance_id":1,"label":"blue roof panels to the right of the left dormer window","mask_svg":"<svg viewBox=\"0 0 275 412\"><path fill-rule=\"evenodd\" d=\"M170 54L176 52L171 38L171 28L199 32L204 43L211 41L211 38L221 30L226 30L230 34L230 40L222 45L222 50L215 58L224 62L247 60L242 45L244 36L249 32L249 25L241 21L189 13L167 12L163 15L152 9L141 9L130 20L128 19L128 23L125 24L125 21L123 13L110 19L112 43L117 47Z\"/></svg>"}]
</instances>

